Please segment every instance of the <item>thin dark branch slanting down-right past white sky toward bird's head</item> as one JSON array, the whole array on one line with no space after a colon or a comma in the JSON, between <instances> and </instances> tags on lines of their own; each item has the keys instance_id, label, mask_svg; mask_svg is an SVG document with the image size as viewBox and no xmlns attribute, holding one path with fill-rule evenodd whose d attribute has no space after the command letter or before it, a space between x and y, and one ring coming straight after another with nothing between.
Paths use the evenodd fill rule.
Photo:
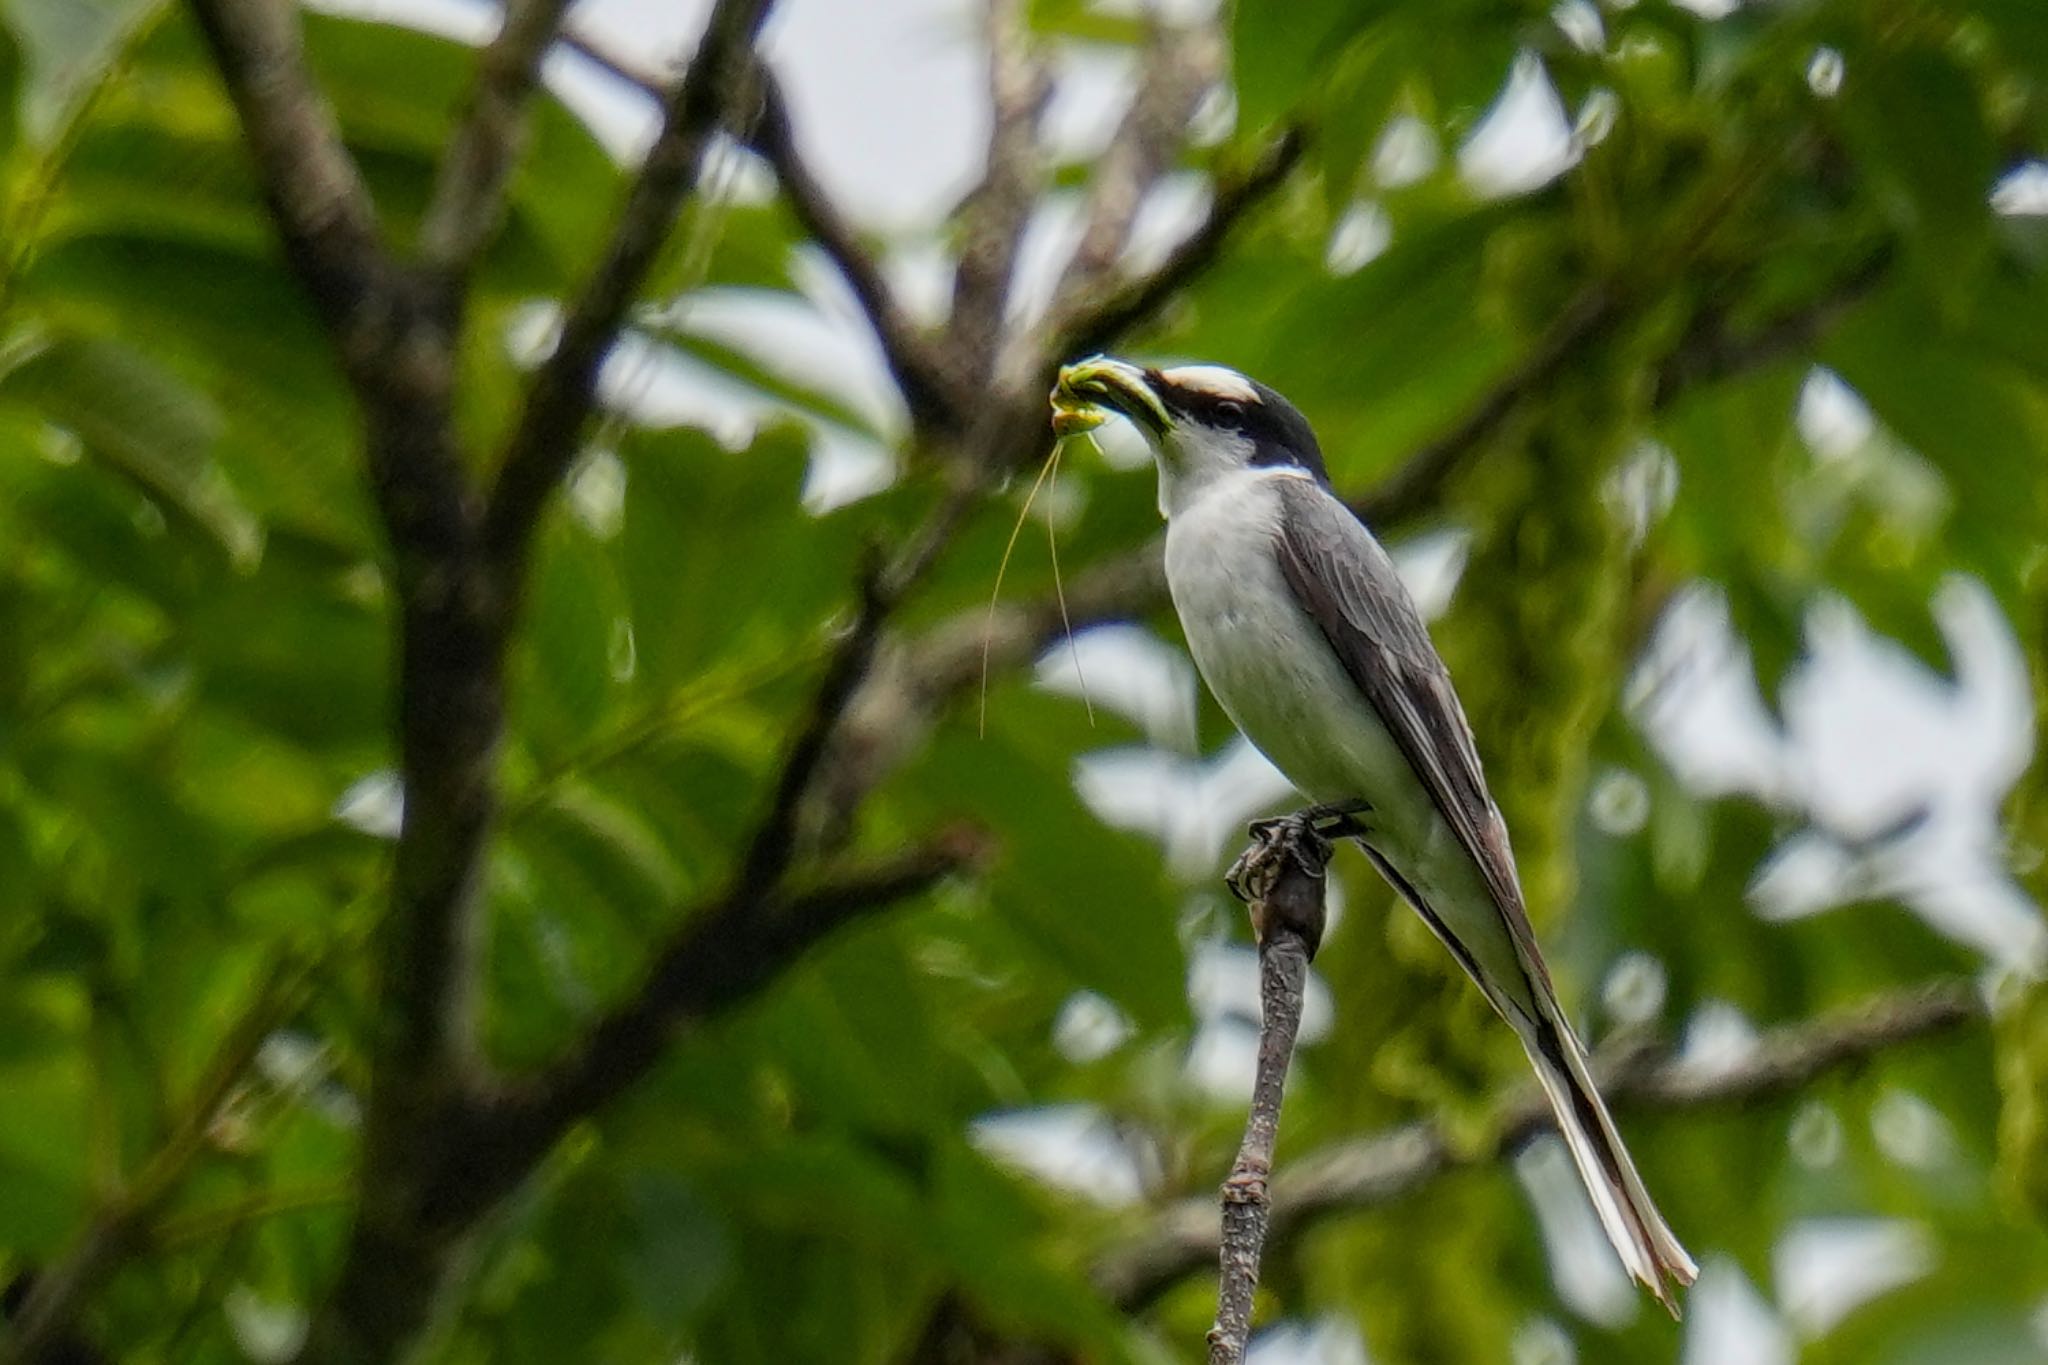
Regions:
<instances>
[{"instance_id":1,"label":"thin dark branch slanting down-right past white sky toward bird's head","mask_svg":"<svg viewBox=\"0 0 2048 1365\"><path fill-rule=\"evenodd\" d=\"M883 278L881 262L860 244L852 223L811 174L797 151L797 131L788 119L788 102L774 72L762 63L762 113L754 123L752 143L774 168L797 223L831 258L860 309L874 327L889 372L903 391L920 430L948 432L961 426L958 403L950 391L948 370L932 340L903 313Z\"/></svg>"}]
</instances>

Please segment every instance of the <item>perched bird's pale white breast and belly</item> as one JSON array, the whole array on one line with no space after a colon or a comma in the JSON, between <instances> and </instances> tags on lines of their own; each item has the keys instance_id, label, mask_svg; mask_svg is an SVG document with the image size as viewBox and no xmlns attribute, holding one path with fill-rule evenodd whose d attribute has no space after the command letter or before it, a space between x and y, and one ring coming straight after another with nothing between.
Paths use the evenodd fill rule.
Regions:
<instances>
[{"instance_id":1,"label":"perched bird's pale white breast and belly","mask_svg":"<svg viewBox=\"0 0 2048 1365\"><path fill-rule=\"evenodd\" d=\"M1374 804L1391 845L1430 845L1436 810L1393 737L1296 604L1274 557L1278 479L1243 469L1174 510L1165 579L1188 649L1225 714L1309 800Z\"/></svg>"}]
</instances>

